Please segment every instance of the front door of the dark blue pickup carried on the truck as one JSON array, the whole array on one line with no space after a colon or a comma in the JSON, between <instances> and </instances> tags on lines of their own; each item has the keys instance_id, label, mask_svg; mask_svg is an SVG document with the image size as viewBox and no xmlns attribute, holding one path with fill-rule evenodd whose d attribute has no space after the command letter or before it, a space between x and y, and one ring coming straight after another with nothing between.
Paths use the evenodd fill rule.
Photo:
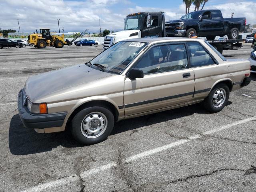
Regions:
<instances>
[{"instance_id":1,"label":"front door of the dark blue pickup carried on the truck","mask_svg":"<svg viewBox=\"0 0 256 192\"><path fill-rule=\"evenodd\" d=\"M207 19L202 19L202 16L208 16ZM202 14L199 19L200 36L206 36L214 28L212 22L212 16L210 11L206 11Z\"/></svg>"}]
</instances>

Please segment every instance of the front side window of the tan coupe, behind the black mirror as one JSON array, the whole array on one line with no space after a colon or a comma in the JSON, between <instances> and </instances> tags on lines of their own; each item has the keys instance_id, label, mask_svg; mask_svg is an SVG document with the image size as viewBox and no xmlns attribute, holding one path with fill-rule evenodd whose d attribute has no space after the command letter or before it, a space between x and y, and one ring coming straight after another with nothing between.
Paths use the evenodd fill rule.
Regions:
<instances>
[{"instance_id":1,"label":"front side window of the tan coupe, behind the black mirror","mask_svg":"<svg viewBox=\"0 0 256 192\"><path fill-rule=\"evenodd\" d=\"M161 45L150 48L136 64L144 74L188 68L185 44Z\"/></svg>"}]
</instances>

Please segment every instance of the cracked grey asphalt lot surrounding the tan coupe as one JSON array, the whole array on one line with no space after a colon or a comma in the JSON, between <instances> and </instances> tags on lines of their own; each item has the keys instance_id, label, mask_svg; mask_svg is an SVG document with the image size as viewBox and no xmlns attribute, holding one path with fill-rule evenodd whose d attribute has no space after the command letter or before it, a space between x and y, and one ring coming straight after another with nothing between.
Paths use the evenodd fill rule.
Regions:
<instances>
[{"instance_id":1,"label":"cracked grey asphalt lot surrounding the tan coupe","mask_svg":"<svg viewBox=\"0 0 256 192\"><path fill-rule=\"evenodd\" d=\"M230 93L219 113L195 104L124 120L92 146L78 144L69 131L38 134L22 125L17 95L28 77L101 51L0 50L0 191L256 191L256 75ZM248 59L250 44L224 56Z\"/></svg>"}]
</instances>

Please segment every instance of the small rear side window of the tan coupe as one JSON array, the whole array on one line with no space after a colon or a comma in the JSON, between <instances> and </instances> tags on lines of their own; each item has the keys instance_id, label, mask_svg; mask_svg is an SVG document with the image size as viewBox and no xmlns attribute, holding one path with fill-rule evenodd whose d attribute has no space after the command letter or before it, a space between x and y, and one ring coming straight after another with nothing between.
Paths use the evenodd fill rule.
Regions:
<instances>
[{"instance_id":1,"label":"small rear side window of the tan coupe","mask_svg":"<svg viewBox=\"0 0 256 192\"><path fill-rule=\"evenodd\" d=\"M206 52L204 47L198 42L187 42L190 52L190 66L200 67L215 64L211 56Z\"/></svg>"}]
</instances>

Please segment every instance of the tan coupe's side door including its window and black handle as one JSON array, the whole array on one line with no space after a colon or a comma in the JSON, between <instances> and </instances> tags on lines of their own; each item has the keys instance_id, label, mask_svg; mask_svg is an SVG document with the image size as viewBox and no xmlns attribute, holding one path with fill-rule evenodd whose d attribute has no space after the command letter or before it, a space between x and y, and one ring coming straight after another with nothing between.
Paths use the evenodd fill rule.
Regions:
<instances>
[{"instance_id":1,"label":"tan coupe's side door including its window and black handle","mask_svg":"<svg viewBox=\"0 0 256 192\"><path fill-rule=\"evenodd\" d=\"M126 78L124 81L125 116L192 100L194 72L188 66L185 43L148 48L133 66L144 72L144 78Z\"/></svg>"}]
</instances>

